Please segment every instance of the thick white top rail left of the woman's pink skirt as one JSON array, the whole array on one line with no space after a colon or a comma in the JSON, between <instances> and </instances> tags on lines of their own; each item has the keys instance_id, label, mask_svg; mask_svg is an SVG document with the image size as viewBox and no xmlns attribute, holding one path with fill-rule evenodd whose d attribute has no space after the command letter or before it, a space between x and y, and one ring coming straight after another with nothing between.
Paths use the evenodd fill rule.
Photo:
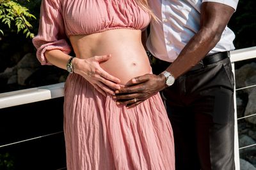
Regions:
<instances>
[{"instance_id":1,"label":"thick white top rail left of the woman's pink skirt","mask_svg":"<svg viewBox=\"0 0 256 170\"><path fill-rule=\"evenodd\" d=\"M0 109L63 97L64 83L0 94Z\"/></svg>"}]
</instances>

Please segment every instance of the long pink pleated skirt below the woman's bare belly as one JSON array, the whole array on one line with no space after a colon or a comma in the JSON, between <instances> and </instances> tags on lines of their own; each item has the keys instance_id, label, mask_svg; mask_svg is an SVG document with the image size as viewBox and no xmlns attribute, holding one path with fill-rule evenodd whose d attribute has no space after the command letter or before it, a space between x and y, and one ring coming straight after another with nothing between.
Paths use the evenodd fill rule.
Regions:
<instances>
[{"instance_id":1,"label":"long pink pleated skirt below the woman's bare belly","mask_svg":"<svg viewBox=\"0 0 256 170\"><path fill-rule=\"evenodd\" d=\"M68 170L175 169L172 127L159 93L126 109L70 74L64 133Z\"/></svg>"}]
</instances>

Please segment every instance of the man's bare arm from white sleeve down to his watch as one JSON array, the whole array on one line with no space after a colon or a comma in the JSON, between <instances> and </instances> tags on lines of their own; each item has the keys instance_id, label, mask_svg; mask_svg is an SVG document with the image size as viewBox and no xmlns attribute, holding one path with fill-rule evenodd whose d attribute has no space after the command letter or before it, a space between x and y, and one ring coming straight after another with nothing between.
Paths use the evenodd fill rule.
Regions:
<instances>
[{"instance_id":1,"label":"man's bare arm from white sleeve down to his watch","mask_svg":"<svg viewBox=\"0 0 256 170\"><path fill-rule=\"evenodd\" d=\"M177 78L200 62L220 41L221 34L233 13L234 9L225 4L203 3L200 30L190 39L166 71Z\"/></svg>"}]
</instances>

